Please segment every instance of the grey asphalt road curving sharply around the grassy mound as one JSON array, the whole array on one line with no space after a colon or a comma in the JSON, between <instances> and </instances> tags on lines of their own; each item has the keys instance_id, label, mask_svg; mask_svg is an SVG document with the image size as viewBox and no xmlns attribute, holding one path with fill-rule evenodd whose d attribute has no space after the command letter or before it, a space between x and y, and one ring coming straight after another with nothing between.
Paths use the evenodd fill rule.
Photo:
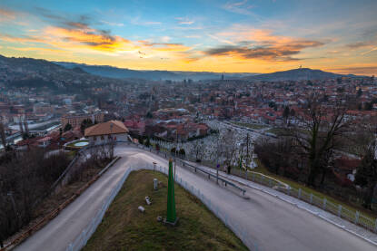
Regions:
<instances>
[{"instance_id":1,"label":"grey asphalt road curving sharply around the grassy mound","mask_svg":"<svg viewBox=\"0 0 377 251\"><path fill-rule=\"evenodd\" d=\"M165 159L134 147L118 145L115 154L123 158L15 250L65 250L102 207L104 199L122 179L127 168L136 165L142 167L152 161L167 166ZM187 169L177 167L176 172L184 181L199 188L216 207L226 211L229 221L246 229L250 243L256 244L258 250L377 250L376 246L362 238L263 192L246 188L250 199L245 199ZM179 198L176 200L179 203Z\"/></svg>"}]
</instances>

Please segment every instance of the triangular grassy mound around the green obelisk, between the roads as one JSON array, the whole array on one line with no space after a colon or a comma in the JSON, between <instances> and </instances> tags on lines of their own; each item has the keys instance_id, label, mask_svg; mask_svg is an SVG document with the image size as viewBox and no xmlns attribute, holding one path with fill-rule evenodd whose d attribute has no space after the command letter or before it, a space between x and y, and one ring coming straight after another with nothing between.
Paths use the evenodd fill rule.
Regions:
<instances>
[{"instance_id":1,"label":"triangular grassy mound around the green obelisk, between the roads","mask_svg":"<svg viewBox=\"0 0 377 251\"><path fill-rule=\"evenodd\" d=\"M153 189L154 178L163 182L157 191ZM145 205L145 196L152 198L151 206ZM83 250L247 250L200 200L177 184L179 225L167 227L157 222L157 216L166 214L166 196L167 178L163 174L132 172ZM140 205L144 214L137 209Z\"/></svg>"}]
</instances>

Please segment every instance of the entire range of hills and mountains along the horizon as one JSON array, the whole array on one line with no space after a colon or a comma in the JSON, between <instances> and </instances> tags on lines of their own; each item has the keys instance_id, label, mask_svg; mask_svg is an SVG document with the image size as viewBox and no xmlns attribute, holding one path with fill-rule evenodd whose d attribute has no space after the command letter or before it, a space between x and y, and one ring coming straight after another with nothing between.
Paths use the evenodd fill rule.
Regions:
<instances>
[{"instance_id":1,"label":"entire range of hills and mountains along the horizon","mask_svg":"<svg viewBox=\"0 0 377 251\"><path fill-rule=\"evenodd\" d=\"M342 75L323 72L309 68L300 68L283 72L267 74L257 73L221 73L221 72L178 72L178 71L137 71L106 65L88 65L84 63L49 62L32 58L15 58L0 55L0 82L7 82L8 86L35 86L35 82L44 80L43 86L55 85L55 88L67 89L77 85L98 86L106 82L129 82L137 80L173 80L191 79L220 80L241 79L247 81L299 81L325 80L338 77L364 77L356 75ZM2 77L3 76L3 77ZM116 79L116 80L115 80ZM127 80L128 79L128 80ZM12 84L14 82L14 84Z\"/></svg>"}]
</instances>

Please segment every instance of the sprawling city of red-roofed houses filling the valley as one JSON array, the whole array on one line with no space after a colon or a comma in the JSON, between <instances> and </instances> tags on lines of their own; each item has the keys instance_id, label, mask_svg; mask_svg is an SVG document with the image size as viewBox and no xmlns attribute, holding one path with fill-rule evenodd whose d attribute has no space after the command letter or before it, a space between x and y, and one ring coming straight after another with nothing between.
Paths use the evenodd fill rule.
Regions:
<instances>
[{"instance_id":1,"label":"sprawling city of red-roofed houses filling the valley","mask_svg":"<svg viewBox=\"0 0 377 251\"><path fill-rule=\"evenodd\" d=\"M16 150L62 149L70 141L85 137L86 128L112 120L121 121L124 130L139 140L145 137L172 142L203 139L213 130L209 121L256 124L269 129L263 130L264 136L275 137L273 129L305 120L302 116L303 120L298 121L297 115L303 114L308 97L313 94L329 104L346 103L345 114L350 120L377 117L377 84L373 77L267 82L221 76L219 80L207 81L124 82L98 80L82 72L62 80L55 76L56 72L17 75L15 72L24 70L10 69L0 68L0 119L8 147ZM30 83L35 77L41 82L55 82L53 86L57 89L38 84L9 85L20 78ZM80 86L81 91L66 88L70 85ZM59 89L61 86L65 88ZM352 180L360 159L340 158L336 175L340 175L340 182L348 182L344 180ZM353 161L351 166L350 161Z\"/></svg>"}]
</instances>

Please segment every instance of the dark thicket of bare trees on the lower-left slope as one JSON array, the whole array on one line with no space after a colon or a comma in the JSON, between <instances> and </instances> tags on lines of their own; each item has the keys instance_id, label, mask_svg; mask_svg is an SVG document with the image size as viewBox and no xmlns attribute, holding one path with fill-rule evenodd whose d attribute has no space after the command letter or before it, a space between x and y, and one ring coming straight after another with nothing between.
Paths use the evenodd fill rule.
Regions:
<instances>
[{"instance_id":1,"label":"dark thicket of bare trees on the lower-left slope","mask_svg":"<svg viewBox=\"0 0 377 251\"><path fill-rule=\"evenodd\" d=\"M33 217L41 198L69 163L64 153L46 155L45 150L7 153L0 162L0 236L13 235Z\"/></svg>"}]
</instances>

